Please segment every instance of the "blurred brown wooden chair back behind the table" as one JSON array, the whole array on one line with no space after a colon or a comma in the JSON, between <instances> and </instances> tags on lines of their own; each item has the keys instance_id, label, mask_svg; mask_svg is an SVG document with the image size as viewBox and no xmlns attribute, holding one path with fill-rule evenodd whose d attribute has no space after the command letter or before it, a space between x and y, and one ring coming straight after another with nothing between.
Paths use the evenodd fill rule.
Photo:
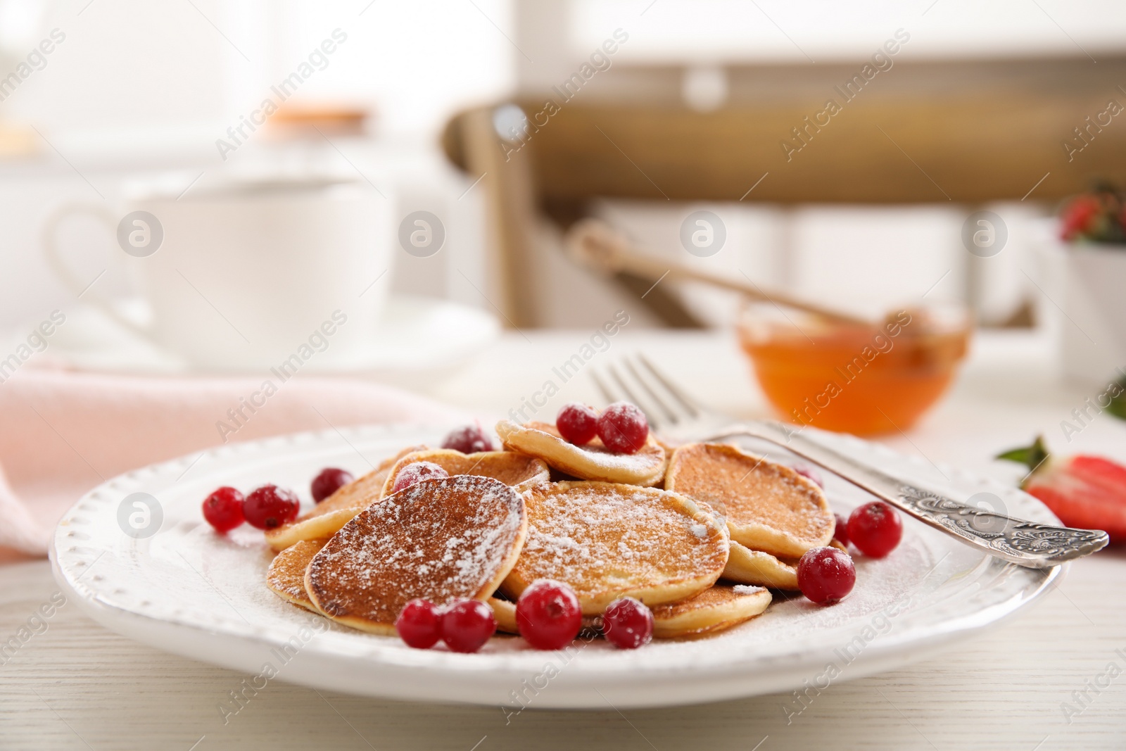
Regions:
<instances>
[{"instance_id":1,"label":"blurred brown wooden chair back behind the table","mask_svg":"<svg viewBox=\"0 0 1126 751\"><path fill-rule=\"evenodd\" d=\"M807 102L697 113L578 99L545 116L544 98L528 98L515 102L533 118L522 141L498 133L491 106L455 116L444 147L472 178L488 176L495 303L512 325L528 327L537 323L526 252L537 212L566 227L593 197L783 205L1060 199L1092 178L1126 175L1126 113L1098 123L1115 93L1126 102L1112 89L1101 104L1090 91L1060 90L858 97L820 117L822 108ZM641 292L651 286L619 281ZM691 324L672 296L644 302L671 325Z\"/></svg>"}]
</instances>

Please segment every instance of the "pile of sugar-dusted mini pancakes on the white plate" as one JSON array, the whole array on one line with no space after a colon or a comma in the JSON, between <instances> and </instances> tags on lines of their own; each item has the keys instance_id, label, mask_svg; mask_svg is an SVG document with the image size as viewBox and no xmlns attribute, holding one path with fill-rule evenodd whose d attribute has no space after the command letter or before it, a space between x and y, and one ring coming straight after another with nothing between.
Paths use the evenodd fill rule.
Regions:
<instances>
[{"instance_id":1,"label":"pile of sugar-dusted mini pancakes on the white plate","mask_svg":"<svg viewBox=\"0 0 1126 751\"><path fill-rule=\"evenodd\" d=\"M554 579L592 627L628 596L652 609L654 636L692 637L761 614L767 588L796 590L797 558L832 538L816 484L734 446L670 449L650 436L636 454L614 454L547 423L506 420L497 432L500 452L406 448L267 531L278 551L269 588L379 634L395 633L411 599L473 598L515 634L517 598ZM450 476L391 493L414 462Z\"/></svg>"}]
</instances>

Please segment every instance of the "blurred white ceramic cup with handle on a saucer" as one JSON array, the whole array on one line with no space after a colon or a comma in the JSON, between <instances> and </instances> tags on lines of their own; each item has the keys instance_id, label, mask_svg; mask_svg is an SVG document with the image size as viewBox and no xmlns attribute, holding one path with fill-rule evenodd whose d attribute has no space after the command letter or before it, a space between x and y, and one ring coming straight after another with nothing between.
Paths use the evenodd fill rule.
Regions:
<instances>
[{"instance_id":1,"label":"blurred white ceramic cup with handle on a saucer","mask_svg":"<svg viewBox=\"0 0 1126 751\"><path fill-rule=\"evenodd\" d=\"M378 323L391 277L391 207L365 184L225 181L179 197L150 187L133 190L116 212L64 206L48 218L43 245L79 294L89 280L66 266L56 241L59 224L74 214L109 226L113 253L151 320L123 314L96 287L82 299L189 366L347 366L360 360Z\"/></svg>"}]
</instances>

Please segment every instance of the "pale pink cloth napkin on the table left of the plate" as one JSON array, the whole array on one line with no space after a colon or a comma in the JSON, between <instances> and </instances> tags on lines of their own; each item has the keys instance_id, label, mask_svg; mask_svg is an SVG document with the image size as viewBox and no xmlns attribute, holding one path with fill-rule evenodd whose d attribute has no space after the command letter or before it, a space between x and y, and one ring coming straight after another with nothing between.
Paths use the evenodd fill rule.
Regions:
<instances>
[{"instance_id":1,"label":"pale pink cloth napkin on the table left of the plate","mask_svg":"<svg viewBox=\"0 0 1126 751\"><path fill-rule=\"evenodd\" d=\"M79 497L153 462L301 430L470 419L406 392L336 378L286 382L251 413L242 404L261 404L261 386L260 378L30 369L0 383L0 562L46 555L52 529ZM240 406L247 419L232 419L227 410Z\"/></svg>"}]
</instances>

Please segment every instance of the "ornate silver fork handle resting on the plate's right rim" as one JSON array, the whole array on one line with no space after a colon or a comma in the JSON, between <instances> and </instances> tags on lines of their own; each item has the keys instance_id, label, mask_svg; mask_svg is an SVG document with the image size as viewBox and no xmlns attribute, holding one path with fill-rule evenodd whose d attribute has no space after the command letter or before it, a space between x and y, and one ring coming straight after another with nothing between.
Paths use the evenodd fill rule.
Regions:
<instances>
[{"instance_id":1,"label":"ornate silver fork handle resting on the plate's right rim","mask_svg":"<svg viewBox=\"0 0 1126 751\"><path fill-rule=\"evenodd\" d=\"M1109 543L1099 529L1053 527L986 511L895 477L774 421L732 426L711 440L750 436L777 444L912 517L1017 565L1045 569L1090 555Z\"/></svg>"}]
</instances>

